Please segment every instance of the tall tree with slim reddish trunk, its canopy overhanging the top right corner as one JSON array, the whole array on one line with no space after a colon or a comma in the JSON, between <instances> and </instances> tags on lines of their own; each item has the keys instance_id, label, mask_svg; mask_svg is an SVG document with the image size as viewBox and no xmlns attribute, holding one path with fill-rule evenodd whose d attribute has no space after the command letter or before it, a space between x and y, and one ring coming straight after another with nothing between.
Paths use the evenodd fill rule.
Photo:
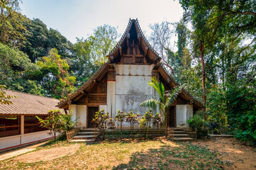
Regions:
<instances>
[{"instance_id":1,"label":"tall tree with slim reddish trunk, its canopy overhanging the top right corner","mask_svg":"<svg viewBox=\"0 0 256 170\"><path fill-rule=\"evenodd\" d=\"M202 85L204 91L204 106L206 106L206 64L207 57L211 63L216 63L216 53L224 50L220 43L226 44L231 39L239 40L247 37L250 43L247 49L255 49L256 11L255 1L179 1L184 10L191 13L191 23L194 26L194 49L199 52L202 68ZM231 39L230 39L231 38ZM233 41L234 42L234 41ZM242 42L243 44L243 42ZM196 50L197 49L197 50ZM243 54L243 50L238 52ZM232 56L232 55L231 55ZM228 57L230 59L230 55ZM230 62L229 66L230 67ZM205 111L205 110L204 110ZM204 120L206 115L204 114Z\"/></svg>"}]
</instances>

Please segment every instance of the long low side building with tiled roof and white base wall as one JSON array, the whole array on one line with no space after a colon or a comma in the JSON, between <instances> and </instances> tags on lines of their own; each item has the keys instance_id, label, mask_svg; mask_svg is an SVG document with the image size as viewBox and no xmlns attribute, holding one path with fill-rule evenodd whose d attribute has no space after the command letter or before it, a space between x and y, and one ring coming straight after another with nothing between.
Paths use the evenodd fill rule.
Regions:
<instances>
[{"instance_id":1,"label":"long low side building with tiled roof and white base wall","mask_svg":"<svg viewBox=\"0 0 256 170\"><path fill-rule=\"evenodd\" d=\"M2 90L2 89L1 89ZM45 118L48 111L58 109L59 100L4 89L11 105L0 104L0 152L40 140L50 139L50 130L40 127L35 116Z\"/></svg>"}]
</instances>

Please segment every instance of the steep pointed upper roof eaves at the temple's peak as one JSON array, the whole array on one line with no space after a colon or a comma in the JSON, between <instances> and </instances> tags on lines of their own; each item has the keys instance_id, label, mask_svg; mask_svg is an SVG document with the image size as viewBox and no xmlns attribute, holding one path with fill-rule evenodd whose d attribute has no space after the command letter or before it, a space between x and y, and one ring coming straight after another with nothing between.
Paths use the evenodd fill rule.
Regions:
<instances>
[{"instance_id":1,"label":"steep pointed upper roof eaves at the temple's peak","mask_svg":"<svg viewBox=\"0 0 256 170\"><path fill-rule=\"evenodd\" d=\"M126 27L125 32L123 33L123 36L121 37L121 39L118 41L117 45L115 47L113 47L113 50L111 50L111 52L108 55L108 59L109 60L115 60L116 57L122 55L121 54L121 50L120 47L124 47L126 44L126 36L127 34L130 32L130 28L132 28L132 26L135 26L137 35L140 34L140 43L141 43L141 47L143 48L144 51L147 51L146 56L152 61L152 62L160 62L160 60L162 59L161 57L159 57L159 55L157 54L157 52L152 48L152 46L150 45L150 43L148 42L148 40L145 38L145 35L143 34L143 31L140 28L140 24L138 23L138 19L130 19L128 26Z\"/></svg>"}]
</instances>

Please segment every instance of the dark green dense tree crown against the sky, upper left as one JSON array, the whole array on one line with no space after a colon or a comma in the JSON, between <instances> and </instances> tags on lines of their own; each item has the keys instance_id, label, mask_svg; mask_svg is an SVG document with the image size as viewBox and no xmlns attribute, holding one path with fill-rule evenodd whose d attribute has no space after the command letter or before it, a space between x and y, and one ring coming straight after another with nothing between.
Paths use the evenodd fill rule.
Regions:
<instances>
[{"instance_id":1,"label":"dark green dense tree crown against the sky, upper left","mask_svg":"<svg viewBox=\"0 0 256 170\"><path fill-rule=\"evenodd\" d=\"M62 59L71 60L73 56L73 45L57 30L50 28L40 19L30 20L25 18L22 22L26 28L26 41L21 47L26 52L32 62L36 62L38 58L48 55L52 48L56 48Z\"/></svg>"}]
</instances>

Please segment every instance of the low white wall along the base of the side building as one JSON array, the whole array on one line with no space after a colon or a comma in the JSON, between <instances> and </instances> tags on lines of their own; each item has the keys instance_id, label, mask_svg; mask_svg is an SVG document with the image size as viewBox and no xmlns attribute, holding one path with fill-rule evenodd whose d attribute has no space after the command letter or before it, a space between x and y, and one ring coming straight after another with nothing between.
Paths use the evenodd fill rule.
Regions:
<instances>
[{"instance_id":1,"label":"low white wall along the base of the side building","mask_svg":"<svg viewBox=\"0 0 256 170\"><path fill-rule=\"evenodd\" d=\"M48 135L50 130L40 132L26 133L23 135L14 135L9 137L0 137L0 151L9 147L18 147L19 145L26 145L31 142L38 142L40 140L49 139L52 135Z\"/></svg>"}]
</instances>

